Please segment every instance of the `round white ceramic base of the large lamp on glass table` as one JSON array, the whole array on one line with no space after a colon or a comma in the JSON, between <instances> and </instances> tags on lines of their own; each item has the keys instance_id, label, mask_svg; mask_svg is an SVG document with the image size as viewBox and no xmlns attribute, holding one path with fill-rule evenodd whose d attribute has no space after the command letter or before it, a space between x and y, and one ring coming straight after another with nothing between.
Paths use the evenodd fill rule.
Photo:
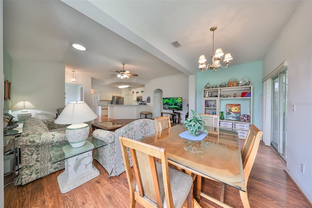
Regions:
<instances>
[{"instance_id":1,"label":"round white ceramic base of the large lamp on glass table","mask_svg":"<svg viewBox=\"0 0 312 208\"><path fill-rule=\"evenodd\" d=\"M87 124L72 124L65 130L66 138L72 147L84 146L90 133L90 127Z\"/></svg>"}]
</instances>

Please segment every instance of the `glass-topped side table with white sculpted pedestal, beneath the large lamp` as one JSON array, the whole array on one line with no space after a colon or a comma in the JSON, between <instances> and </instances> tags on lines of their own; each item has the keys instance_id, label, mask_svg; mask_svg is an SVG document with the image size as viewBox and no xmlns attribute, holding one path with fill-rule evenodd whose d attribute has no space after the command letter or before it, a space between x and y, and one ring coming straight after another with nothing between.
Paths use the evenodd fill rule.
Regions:
<instances>
[{"instance_id":1,"label":"glass-topped side table with white sculpted pedestal, beneath the large lamp","mask_svg":"<svg viewBox=\"0 0 312 208\"><path fill-rule=\"evenodd\" d=\"M98 169L92 164L92 150L107 144L94 137L89 137L84 146L73 148L68 141L48 147L53 163L64 160L65 170L58 176L61 193L94 179L99 175Z\"/></svg>"}]
</instances>

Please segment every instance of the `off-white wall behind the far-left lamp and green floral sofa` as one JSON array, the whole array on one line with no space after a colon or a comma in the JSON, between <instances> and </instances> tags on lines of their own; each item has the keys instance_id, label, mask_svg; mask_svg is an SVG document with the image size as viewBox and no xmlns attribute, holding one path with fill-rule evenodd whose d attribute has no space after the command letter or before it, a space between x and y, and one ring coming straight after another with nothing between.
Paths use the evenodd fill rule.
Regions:
<instances>
[{"instance_id":1,"label":"off-white wall behind the far-left lamp and green floral sofa","mask_svg":"<svg viewBox=\"0 0 312 208\"><path fill-rule=\"evenodd\" d=\"M29 101L37 108L29 110L39 119L55 117L57 109L64 106L65 65L59 62L12 61L12 106L19 101ZM10 113L16 116L20 110Z\"/></svg>"}]
</instances>

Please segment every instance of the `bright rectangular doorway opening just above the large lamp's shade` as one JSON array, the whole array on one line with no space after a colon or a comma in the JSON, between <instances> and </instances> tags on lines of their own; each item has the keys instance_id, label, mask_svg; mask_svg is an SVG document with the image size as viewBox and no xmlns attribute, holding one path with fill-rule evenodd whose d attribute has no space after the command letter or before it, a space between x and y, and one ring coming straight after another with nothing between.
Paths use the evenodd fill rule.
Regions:
<instances>
[{"instance_id":1,"label":"bright rectangular doorway opening just above the large lamp's shade","mask_svg":"<svg viewBox=\"0 0 312 208\"><path fill-rule=\"evenodd\" d=\"M65 83L65 106L74 101L84 101L84 85Z\"/></svg>"}]
</instances>

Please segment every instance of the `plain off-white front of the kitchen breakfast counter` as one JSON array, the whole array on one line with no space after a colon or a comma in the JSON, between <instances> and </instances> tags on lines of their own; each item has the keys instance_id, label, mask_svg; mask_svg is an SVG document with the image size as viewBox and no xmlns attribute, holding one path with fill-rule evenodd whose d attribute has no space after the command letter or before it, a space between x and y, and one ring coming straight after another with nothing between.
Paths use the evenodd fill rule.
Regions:
<instances>
[{"instance_id":1,"label":"plain off-white front of the kitchen breakfast counter","mask_svg":"<svg viewBox=\"0 0 312 208\"><path fill-rule=\"evenodd\" d=\"M141 111L147 111L146 104L110 104L108 105L108 118L110 119L139 119Z\"/></svg>"}]
</instances>

